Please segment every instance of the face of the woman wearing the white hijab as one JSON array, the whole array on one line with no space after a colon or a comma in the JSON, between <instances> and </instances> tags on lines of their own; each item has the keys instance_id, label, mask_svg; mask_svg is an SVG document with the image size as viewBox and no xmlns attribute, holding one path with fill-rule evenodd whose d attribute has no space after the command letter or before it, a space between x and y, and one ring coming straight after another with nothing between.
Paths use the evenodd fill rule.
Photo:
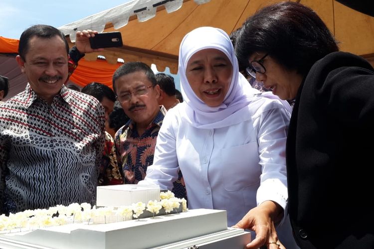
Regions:
<instances>
[{"instance_id":1,"label":"face of the woman wearing the white hijab","mask_svg":"<svg viewBox=\"0 0 374 249\"><path fill-rule=\"evenodd\" d=\"M195 95L209 107L222 104L230 87L232 65L213 48L194 53L187 62L186 77Z\"/></svg>"}]
</instances>

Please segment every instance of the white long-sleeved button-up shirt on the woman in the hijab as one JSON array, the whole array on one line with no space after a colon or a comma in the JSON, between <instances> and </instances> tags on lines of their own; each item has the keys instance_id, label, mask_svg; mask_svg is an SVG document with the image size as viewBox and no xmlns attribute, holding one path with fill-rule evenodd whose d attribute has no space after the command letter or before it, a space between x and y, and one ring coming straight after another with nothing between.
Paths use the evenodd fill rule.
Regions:
<instances>
[{"instance_id":1,"label":"white long-sleeved button-up shirt on the woman in the hijab","mask_svg":"<svg viewBox=\"0 0 374 249\"><path fill-rule=\"evenodd\" d=\"M188 208L226 210L228 226L266 200L286 210L285 145L290 113L283 105L256 97L249 105L251 119L214 129L188 124L182 105L165 116L144 183L171 190L180 168Z\"/></svg>"}]
</instances>

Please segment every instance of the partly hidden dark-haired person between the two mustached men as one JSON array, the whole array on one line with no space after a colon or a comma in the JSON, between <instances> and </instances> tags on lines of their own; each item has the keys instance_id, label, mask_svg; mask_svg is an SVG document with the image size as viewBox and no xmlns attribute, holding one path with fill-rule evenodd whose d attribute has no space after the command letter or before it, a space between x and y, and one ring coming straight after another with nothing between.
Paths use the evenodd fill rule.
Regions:
<instances>
[{"instance_id":1,"label":"partly hidden dark-haired person between the two mustached men","mask_svg":"<svg viewBox=\"0 0 374 249\"><path fill-rule=\"evenodd\" d=\"M105 121L108 122L109 115L113 111L116 96L108 86L92 82L82 88L81 93L95 97L104 108ZM99 174L99 185L123 184L122 174L118 168L116 150L113 137L105 131L105 143L102 164Z\"/></svg>"}]
</instances>

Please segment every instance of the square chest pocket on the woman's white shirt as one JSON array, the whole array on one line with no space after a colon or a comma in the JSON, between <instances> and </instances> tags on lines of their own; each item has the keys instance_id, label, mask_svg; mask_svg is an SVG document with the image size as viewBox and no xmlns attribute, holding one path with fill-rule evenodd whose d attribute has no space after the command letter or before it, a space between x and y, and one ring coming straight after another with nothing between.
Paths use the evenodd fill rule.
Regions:
<instances>
[{"instance_id":1,"label":"square chest pocket on the woman's white shirt","mask_svg":"<svg viewBox=\"0 0 374 249\"><path fill-rule=\"evenodd\" d=\"M243 145L221 149L221 161L224 168L224 188L226 191L238 191L258 184L261 175L258 145L256 141Z\"/></svg>"}]
</instances>

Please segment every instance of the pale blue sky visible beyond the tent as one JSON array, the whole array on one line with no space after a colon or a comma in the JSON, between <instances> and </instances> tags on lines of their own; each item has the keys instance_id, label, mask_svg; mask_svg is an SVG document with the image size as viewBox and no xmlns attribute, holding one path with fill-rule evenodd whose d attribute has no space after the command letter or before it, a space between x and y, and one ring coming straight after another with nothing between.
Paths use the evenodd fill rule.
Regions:
<instances>
[{"instance_id":1,"label":"pale blue sky visible beyond the tent","mask_svg":"<svg viewBox=\"0 0 374 249\"><path fill-rule=\"evenodd\" d=\"M19 39L34 24L60 27L130 0L1 0L0 36ZM170 74L169 68L165 71ZM172 75L172 74L171 74ZM175 78L179 86L179 76Z\"/></svg>"}]
</instances>

